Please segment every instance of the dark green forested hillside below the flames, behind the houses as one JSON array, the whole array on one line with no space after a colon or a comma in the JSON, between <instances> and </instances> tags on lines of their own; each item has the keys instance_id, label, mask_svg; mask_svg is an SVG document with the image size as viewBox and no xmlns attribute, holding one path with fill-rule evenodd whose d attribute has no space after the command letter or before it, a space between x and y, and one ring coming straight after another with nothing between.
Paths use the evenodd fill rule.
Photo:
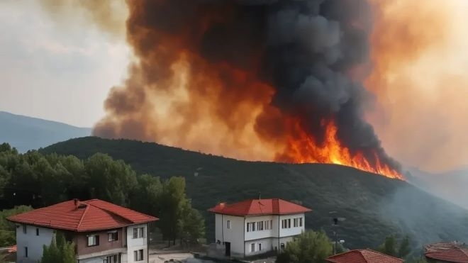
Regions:
<instances>
[{"instance_id":1,"label":"dark green forested hillside below the flames, behind the houses","mask_svg":"<svg viewBox=\"0 0 468 263\"><path fill-rule=\"evenodd\" d=\"M187 194L204 212L211 240L214 218L207 208L219 201L259 198L261 193L262 198L301 201L313 209L306 227L324 229L330 236L332 216L346 218L338 233L350 248L376 247L392 233L411 235L416 247L440 240L468 241L467 211L404 181L350 167L244 162L155 143L101 138L68 140L40 151L82 159L104 152L140 173L185 177Z\"/></svg>"}]
</instances>

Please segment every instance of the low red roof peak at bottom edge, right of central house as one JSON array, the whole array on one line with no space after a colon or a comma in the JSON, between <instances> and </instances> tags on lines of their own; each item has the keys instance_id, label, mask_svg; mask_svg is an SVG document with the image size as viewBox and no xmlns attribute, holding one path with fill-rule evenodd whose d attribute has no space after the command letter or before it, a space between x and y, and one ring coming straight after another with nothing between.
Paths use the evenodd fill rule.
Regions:
<instances>
[{"instance_id":1,"label":"low red roof peak at bottom edge, right of central house","mask_svg":"<svg viewBox=\"0 0 468 263\"><path fill-rule=\"evenodd\" d=\"M333 263L402 263L403 259L391 257L374 250L350 250L328 257L326 261Z\"/></svg>"}]
</instances>

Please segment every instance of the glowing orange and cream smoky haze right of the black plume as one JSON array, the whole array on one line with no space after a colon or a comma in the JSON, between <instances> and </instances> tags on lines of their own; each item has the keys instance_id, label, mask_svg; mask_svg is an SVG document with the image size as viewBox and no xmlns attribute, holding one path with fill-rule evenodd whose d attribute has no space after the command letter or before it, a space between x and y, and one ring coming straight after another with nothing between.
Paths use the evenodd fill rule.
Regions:
<instances>
[{"instance_id":1,"label":"glowing orange and cream smoky haze right of the black plume","mask_svg":"<svg viewBox=\"0 0 468 263\"><path fill-rule=\"evenodd\" d=\"M368 119L397 160L438 172L468 161L468 1L374 1Z\"/></svg>"}]
</instances>

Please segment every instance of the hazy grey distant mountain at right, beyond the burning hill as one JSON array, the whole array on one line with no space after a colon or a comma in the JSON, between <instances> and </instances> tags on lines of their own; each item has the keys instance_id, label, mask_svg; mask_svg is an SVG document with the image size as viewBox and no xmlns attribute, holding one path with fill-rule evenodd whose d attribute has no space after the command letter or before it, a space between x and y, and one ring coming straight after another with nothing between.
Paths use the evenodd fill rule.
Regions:
<instances>
[{"instance_id":1,"label":"hazy grey distant mountain at right, beyond the burning hill","mask_svg":"<svg viewBox=\"0 0 468 263\"><path fill-rule=\"evenodd\" d=\"M421 189L468 209L468 169L430 173L408 168L411 183Z\"/></svg>"}]
</instances>

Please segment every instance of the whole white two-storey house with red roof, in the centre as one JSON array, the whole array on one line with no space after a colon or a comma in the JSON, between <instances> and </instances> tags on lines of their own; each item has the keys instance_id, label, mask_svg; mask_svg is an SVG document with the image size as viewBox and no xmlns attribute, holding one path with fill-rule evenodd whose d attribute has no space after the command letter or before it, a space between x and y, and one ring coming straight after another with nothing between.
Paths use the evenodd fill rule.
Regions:
<instances>
[{"instance_id":1,"label":"whole white two-storey house with red roof, in the centre","mask_svg":"<svg viewBox=\"0 0 468 263\"><path fill-rule=\"evenodd\" d=\"M286 247L303 232L311 209L274 198L219 203L208 211L215 213L216 244L225 256L250 257Z\"/></svg>"}]
</instances>

